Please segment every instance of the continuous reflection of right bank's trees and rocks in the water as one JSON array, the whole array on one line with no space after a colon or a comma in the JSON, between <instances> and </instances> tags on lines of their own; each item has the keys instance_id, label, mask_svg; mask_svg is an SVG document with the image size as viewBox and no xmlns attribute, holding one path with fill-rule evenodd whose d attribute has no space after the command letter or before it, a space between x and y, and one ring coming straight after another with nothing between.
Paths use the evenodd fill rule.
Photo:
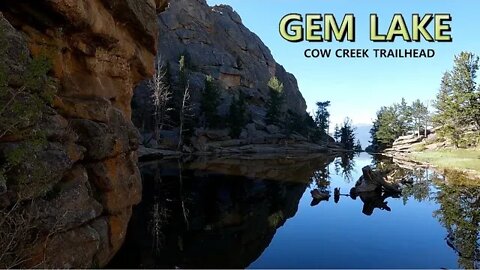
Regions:
<instances>
[{"instance_id":1,"label":"continuous reflection of right bank's trees and rocks in the water","mask_svg":"<svg viewBox=\"0 0 480 270\"><path fill-rule=\"evenodd\" d=\"M434 200L439 209L434 216L446 228L445 241L459 256L461 268L480 267L480 186L457 173L441 176L420 167L400 167L391 159L376 157L375 167L385 175L405 179L402 197L406 204L410 198L416 201ZM435 183L436 189L432 190Z\"/></svg>"}]
</instances>

